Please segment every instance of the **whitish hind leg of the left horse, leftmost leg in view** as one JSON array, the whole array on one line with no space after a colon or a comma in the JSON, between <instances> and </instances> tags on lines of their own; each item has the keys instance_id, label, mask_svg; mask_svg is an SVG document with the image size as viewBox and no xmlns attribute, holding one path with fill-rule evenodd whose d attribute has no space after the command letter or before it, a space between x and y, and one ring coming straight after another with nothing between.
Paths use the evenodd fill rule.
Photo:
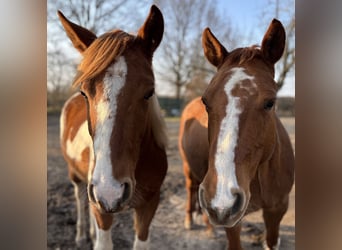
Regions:
<instances>
[{"instance_id":1,"label":"whitish hind leg of the left horse, leftmost leg in view","mask_svg":"<svg viewBox=\"0 0 342 250\"><path fill-rule=\"evenodd\" d=\"M75 198L76 198L76 210L77 210L77 222L76 222L76 245L82 247L87 243L86 234L86 205L88 202L87 197L87 184L79 181L72 180L74 185Z\"/></svg>"}]
</instances>

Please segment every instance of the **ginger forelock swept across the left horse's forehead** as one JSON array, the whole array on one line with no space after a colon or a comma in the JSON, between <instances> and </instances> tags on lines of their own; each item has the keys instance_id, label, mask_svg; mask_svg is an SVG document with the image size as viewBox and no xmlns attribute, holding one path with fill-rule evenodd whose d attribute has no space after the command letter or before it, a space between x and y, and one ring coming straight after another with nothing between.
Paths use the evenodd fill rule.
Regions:
<instances>
[{"instance_id":1,"label":"ginger forelock swept across the left horse's forehead","mask_svg":"<svg viewBox=\"0 0 342 250\"><path fill-rule=\"evenodd\" d=\"M121 30L107 32L98 37L83 54L73 87L104 72L114 58L119 57L134 40L135 36Z\"/></svg>"}]
</instances>

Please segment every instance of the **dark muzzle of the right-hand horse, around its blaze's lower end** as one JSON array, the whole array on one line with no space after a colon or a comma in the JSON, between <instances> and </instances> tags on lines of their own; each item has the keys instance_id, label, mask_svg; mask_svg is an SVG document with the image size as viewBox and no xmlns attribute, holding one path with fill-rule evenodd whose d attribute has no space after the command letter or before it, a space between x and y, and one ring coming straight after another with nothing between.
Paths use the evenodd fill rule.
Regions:
<instances>
[{"instance_id":1,"label":"dark muzzle of the right-hand horse, around its blaze's lower end","mask_svg":"<svg viewBox=\"0 0 342 250\"><path fill-rule=\"evenodd\" d=\"M208 215L210 223L215 226L233 227L245 214L247 199L245 193L240 189L232 189L234 201L229 206L213 206L205 197L205 189L199 187L199 203Z\"/></svg>"}]
</instances>

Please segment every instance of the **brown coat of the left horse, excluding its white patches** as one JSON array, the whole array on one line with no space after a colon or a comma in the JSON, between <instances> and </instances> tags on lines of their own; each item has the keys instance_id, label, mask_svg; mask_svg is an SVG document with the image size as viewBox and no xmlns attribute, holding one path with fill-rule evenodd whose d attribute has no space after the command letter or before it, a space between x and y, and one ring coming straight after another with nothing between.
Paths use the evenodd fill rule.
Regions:
<instances>
[{"instance_id":1,"label":"brown coat of the left horse, excluding its white patches","mask_svg":"<svg viewBox=\"0 0 342 250\"><path fill-rule=\"evenodd\" d=\"M121 184L125 184L124 188L129 190L129 193L123 194L122 199L128 199L128 207L135 209L138 240L135 246L138 247L139 241L148 238L149 225L157 209L160 187L167 172L165 124L156 97L150 97L154 92L152 55L163 35L162 14L156 6L152 6L137 36L114 30L98 38L87 29L67 20L60 12L59 16L69 38L83 55L74 86L79 85L82 94L86 96L85 99L80 94L74 95L62 111L61 123L64 129L61 131L61 147L69 166L70 179L76 184L92 180L96 168L96 152L92 162L90 154L93 145L90 144L81 153L82 160L76 161L68 155L67 141L74 139L81 124L87 120L91 138L99 136L96 134L100 133L96 130L97 121L111 117L97 117L97 105L100 100L109 102L110 98L116 98L115 122L108 145L111 165L106 167L112 168L116 180L129 180L128 184ZM109 77L125 77L124 85L117 96L108 96L103 100L106 91L103 82L105 75L108 75L106 69L119 58L123 58L127 72L115 72L118 76ZM129 188L126 184L130 185ZM91 185L88 185L90 193ZM112 213L108 213L101 201L88 195L98 228L110 230ZM126 207L123 205L113 210ZM100 245L97 242L95 246Z\"/></svg>"}]
</instances>

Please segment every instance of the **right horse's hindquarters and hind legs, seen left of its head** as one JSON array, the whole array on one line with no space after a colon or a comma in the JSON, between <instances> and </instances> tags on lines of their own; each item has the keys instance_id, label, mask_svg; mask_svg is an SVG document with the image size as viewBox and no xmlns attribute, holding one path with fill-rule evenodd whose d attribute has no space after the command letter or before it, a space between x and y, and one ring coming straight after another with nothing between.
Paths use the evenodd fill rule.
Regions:
<instances>
[{"instance_id":1,"label":"right horse's hindquarters and hind legs, seen left of its head","mask_svg":"<svg viewBox=\"0 0 342 250\"><path fill-rule=\"evenodd\" d=\"M201 213L197 204L198 188L208 170L208 115L200 98L192 100L184 108L180 119L178 138L188 196L184 226L191 229L193 212ZM211 235L214 231L205 214L203 220L208 227L207 233Z\"/></svg>"}]
</instances>

